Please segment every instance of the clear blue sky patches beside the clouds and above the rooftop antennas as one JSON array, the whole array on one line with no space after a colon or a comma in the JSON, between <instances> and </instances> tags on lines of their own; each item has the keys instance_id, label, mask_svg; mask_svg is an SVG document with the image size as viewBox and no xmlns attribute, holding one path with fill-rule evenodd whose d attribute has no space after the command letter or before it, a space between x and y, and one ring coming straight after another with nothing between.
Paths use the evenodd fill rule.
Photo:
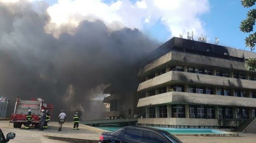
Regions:
<instances>
[{"instance_id":1,"label":"clear blue sky patches beside the clouds and above the rooftop antennas","mask_svg":"<svg viewBox=\"0 0 256 143\"><path fill-rule=\"evenodd\" d=\"M53 5L58 0L45 1ZM104 3L111 3L111 1L116 0L103 1ZM249 50L249 48L245 48L244 41L248 34L242 33L239 25L246 18L246 14L250 8L242 7L240 0L210 0L209 3L210 11L200 16L201 21L204 22L204 29L207 31L207 38L210 39L207 42L214 43L215 36L218 36L219 45ZM160 20L155 25L145 26L140 30L160 42L166 42L171 34ZM195 40L197 39L195 38Z\"/></svg>"}]
</instances>

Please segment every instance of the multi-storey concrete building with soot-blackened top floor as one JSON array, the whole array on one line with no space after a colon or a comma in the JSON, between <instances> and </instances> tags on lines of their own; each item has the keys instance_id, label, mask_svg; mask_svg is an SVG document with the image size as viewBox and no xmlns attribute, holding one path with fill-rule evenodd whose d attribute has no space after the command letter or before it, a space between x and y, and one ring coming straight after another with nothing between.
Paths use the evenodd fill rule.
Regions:
<instances>
[{"instance_id":1,"label":"multi-storey concrete building with soot-blackened top floor","mask_svg":"<svg viewBox=\"0 0 256 143\"><path fill-rule=\"evenodd\" d=\"M231 128L256 116L256 53L174 37L141 63L139 125Z\"/></svg>"}]
</instances>

